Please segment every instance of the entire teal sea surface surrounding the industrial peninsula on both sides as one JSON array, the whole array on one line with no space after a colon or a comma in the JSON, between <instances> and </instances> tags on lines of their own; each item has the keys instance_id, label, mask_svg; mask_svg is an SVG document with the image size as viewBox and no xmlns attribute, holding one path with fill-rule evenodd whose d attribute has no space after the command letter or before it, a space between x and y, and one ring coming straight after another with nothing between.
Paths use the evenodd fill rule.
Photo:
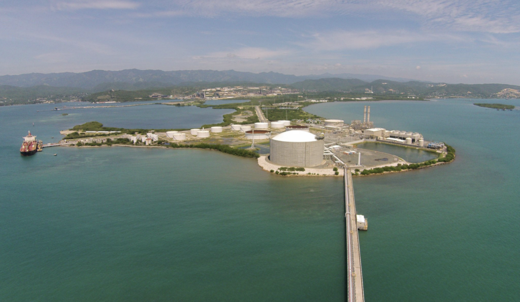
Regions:
<instances>
[{"instance_id":1,"label":"entire teal sea surface surrounding the industrial peninsula on both sides","mask_svg":"<svg viewBox=\"0 0 520 302\"><path fill-rule=\"evenodd\" d=\"M349 122L365 104L376 126L457 149L449 165L354 179L369 220L360 234L366 300L517 299L520 111L467 100L307 111ZM36 112L49 108L0 107L0 300L344 300L341 178L277 177L254 160L204 150L59 147L20 156L28 129L49 142L93 120L190 128L232 111Z\"/></svg>"}]
</instances>

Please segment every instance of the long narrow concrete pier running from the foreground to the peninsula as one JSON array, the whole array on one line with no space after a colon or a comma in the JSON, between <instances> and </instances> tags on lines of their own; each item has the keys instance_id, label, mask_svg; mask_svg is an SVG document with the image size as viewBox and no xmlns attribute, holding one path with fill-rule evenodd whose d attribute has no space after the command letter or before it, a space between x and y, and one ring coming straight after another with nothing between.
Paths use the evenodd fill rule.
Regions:
<instances>
[{"instance_id":1,"label":"long narrow concrete pier running from the foreground to the peninsula","mask_svg":"<svg viewBox=\"0 0 520 302\"><path fill-rule=\"evenodd\" d=\"M359 236L356 221L356 204L352 172L344 168L345 184L345 227L346 227L346 274L348 302L364 302L363 274L361 272L361 254L359 253Z\"/></svg>"}]
</instances>

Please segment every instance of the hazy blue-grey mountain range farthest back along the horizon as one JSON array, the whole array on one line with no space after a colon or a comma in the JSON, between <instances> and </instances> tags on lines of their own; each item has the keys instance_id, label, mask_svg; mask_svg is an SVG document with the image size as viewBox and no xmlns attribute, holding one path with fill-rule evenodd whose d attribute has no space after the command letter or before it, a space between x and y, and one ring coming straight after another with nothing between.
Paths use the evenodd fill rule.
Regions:
<instances>
[{"instance_id":1,"label":"hazy blue-grey mountain range farthest back along the horizon","mask_svg":"<svg viewBox=\"0 0 520 302\"><path fill-rule=\"evenodd\" d=\"M321 74L296 76L277 72L240 72L234 70L138 70L127 69L121 71L93 70L82 73L29 73L20 75L0 76L0 85L17 87L32 87L48 85L53 87L79 87L103 91L103 89L146 89L153 87L166 87L181 83L196 82L250 82L266 84L293 84L304 80L317 80L320 78L360 78L365 81L386 79L381 75L366 74ZM409 81L401 78L388 78L395 81ZM401 82L402 82L401 81ZM123 84L126 83L126 84Z\"/></svg>"}]
</instances>

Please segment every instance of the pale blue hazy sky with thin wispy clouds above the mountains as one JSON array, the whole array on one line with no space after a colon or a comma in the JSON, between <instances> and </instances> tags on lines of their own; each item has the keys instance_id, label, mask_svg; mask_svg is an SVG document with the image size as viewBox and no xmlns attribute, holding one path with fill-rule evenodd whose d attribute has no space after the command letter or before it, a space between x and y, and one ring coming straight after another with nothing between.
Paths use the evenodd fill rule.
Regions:
<instances>
[{"instance_id":1,"label":"pale blue hazy sky with thin wispy clouds above the mountains","mask_svg":"<svg viewBox=\"0 0 520 302\"><path fill-rule=\"evenodd\" d=\"M520 85L520 1L0 0L0 75L129 68Z\"/></svg>"}]
</instances>

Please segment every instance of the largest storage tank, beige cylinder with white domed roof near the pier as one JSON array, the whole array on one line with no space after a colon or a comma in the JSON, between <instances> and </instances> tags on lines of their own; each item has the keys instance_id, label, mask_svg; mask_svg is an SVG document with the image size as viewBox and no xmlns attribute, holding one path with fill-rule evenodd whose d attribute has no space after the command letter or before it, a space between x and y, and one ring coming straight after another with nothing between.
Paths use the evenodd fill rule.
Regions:
<instances>
[{"instance_id":1,"label":"largest storage tank, beige cylinder with white domed roof near the pier","mask_svg":"<svg viewBox=\"0 0 520 302\"><path fill-rule=\"evenodd\" d=\"M281 166L314 167L323 162L323 140L310 132L292 130L270 140L269 160Z\"/></svg>"}]
</instances>

